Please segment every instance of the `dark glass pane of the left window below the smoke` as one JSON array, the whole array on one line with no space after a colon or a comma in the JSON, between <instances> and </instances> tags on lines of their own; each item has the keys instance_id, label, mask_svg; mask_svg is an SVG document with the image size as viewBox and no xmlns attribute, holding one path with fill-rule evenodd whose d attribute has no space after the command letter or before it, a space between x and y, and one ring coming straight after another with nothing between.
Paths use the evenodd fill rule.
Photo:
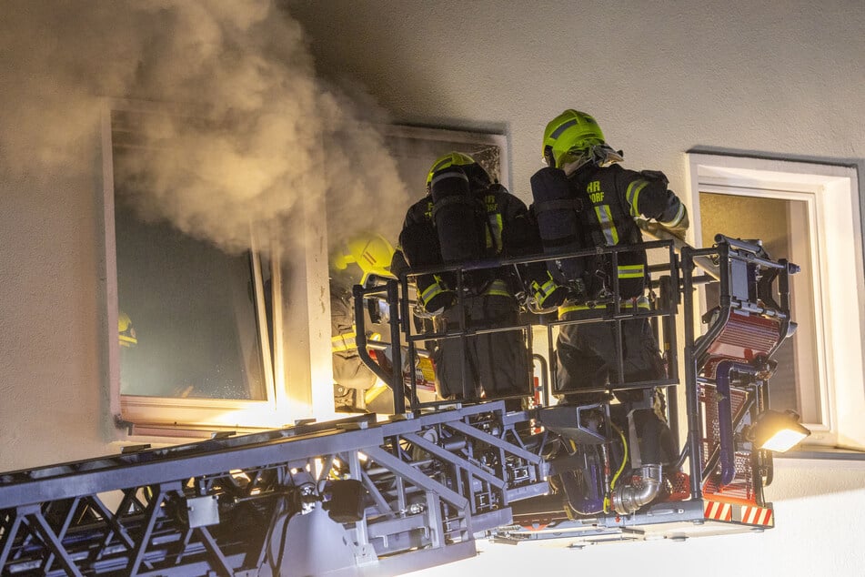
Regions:
<instances>
[{"instance_id":1,"label":"dark glass pane of the left window below the smoke","mask_svg":"<svg viewBox=\"0 0 865 577\"><path fill-rule=\"evenodd\" d=\"M134 150L115 150L115 163ZM267 400L250 253L229 255L165 222L143 222L116 170L120 390L167 398Z\"/></svg>"}]
</instances>

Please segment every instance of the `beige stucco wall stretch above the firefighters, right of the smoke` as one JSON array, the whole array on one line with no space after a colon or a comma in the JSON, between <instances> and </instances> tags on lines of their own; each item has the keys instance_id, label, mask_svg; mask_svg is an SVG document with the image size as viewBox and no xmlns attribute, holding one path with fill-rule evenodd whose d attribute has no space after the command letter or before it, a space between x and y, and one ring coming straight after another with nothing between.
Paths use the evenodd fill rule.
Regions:
<instances>
[{"instance_id":1,"label":"beige stucco wall stretch above the firefighters, right of the smoke","mask_svg":"<svg viewBox=\"0 0 865 577\"><path fill-rule=\"evenodd\" d=\"M861 162L859 2L291 2L317 68L397 120L504 130L514 192L575 107L683 186L692 147ZM419 194L419 191L418 191Z\"/></svg>"}]
</instances>

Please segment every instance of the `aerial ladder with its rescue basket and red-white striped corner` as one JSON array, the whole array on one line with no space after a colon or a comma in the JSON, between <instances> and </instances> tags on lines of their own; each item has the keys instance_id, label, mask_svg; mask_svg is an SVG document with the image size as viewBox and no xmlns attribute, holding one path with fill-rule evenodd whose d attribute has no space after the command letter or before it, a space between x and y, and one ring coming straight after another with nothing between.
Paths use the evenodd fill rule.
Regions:
<instances>
[{"instance_id":1,"label":"aerial ladder with its rescue basket and red-white striped corner","mask_svg":"<svg viewBox=\"0 0 865 577\"><path fill-rule=\"evenodd\" d=\"M649 267L654 308L626 313L611 302L598 322L645 314L663 335L668 378L636 385L668 391L681 450L659 479L641 476L626 454L639 442L622 430L620 409L550 400L548 364L531 348L539 378L527 382L523 410L506 410L505 400L419 402L415 368L429 334L417 329L403 277L355 288L358 348L394 391L393 415L216 432L0 473L0 575L397 575L471 557L479 539L581 546L772 527L762 491L772 461L753 431L771 412L772 354L795 327L796 267L757 242L720 236L711 248L639 248L664 255ZM605 250L615 259L623 249ZM509 264L518 262L463 269ZM717 282L720 296L698 337L695 289L704 282ZM384 311L375 320L392 343L375 359L364 342L374 310ZM531 344L533 322L511 329ZM545 325L550 343L558 326ZM477 333L464 325L437 337Z\"/></svg>"}]
</instances>

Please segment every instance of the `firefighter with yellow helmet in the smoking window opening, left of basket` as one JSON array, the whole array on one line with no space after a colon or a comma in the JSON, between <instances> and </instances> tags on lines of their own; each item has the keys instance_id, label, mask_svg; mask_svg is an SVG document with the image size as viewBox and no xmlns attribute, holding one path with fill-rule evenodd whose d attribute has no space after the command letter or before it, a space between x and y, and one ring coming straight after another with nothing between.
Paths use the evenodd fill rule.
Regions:
<instances>
[{"instance_id":1,"label":"firefighter with yellow helmet in the smoking window opening, left of basket","mask_svg":"<svg viewBox=\"0 0 865 577\"><path fill-rule=\"evenodd\" d=\"M337 410L365 411L365 392L377 385L377 377L364 365L355 341L355 309L352 287L377 278L393 278L390 262L394 248L378 234L360 234L331 258L330 319L333 353L334 402ZM377 335L367 334L375 340Z\"/></svg>"}]
</instances>

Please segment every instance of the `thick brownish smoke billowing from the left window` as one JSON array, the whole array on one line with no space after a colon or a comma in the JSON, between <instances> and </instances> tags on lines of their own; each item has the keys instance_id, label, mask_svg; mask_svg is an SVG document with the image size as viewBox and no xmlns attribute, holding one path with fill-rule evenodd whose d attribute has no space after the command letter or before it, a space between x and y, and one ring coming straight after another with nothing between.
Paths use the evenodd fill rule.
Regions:
<instances>
[{"instance_id":1,"label":"thick brownish smoke billowing from the left window","mask_svg":"<svg viewBox=\"0 0 865 577\"><path fill-rule=\"evenodd\" d=\"M250 227L284 227L299 214L316 227L327 219L331 243L368 229L392 238L401 223L407 192L376 130L385 116L317 77L284 8L268 0L4 8L0 180L64 187L92 171L82 151L97 157L108 97L132 111L113 118L116 182L141 218L232 252L248 248ZM124 123L129 132L118 130Z\"/></svg>"}]
</instances>

